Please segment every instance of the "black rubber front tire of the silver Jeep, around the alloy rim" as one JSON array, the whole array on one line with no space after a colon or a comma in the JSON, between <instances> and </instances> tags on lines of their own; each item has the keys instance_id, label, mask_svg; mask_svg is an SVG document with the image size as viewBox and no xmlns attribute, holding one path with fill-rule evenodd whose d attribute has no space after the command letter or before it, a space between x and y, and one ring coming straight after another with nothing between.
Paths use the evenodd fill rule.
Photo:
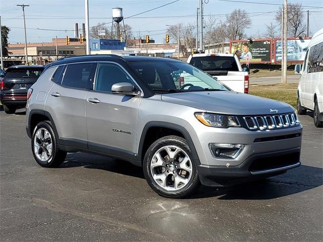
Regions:
<instances>
[{"instance_id":1,"label":"black rubber front tire of the silver Jeep, around the alloy rim","mask_svg":"<svg viewBox=\"0 0 323 242\"><path fill-rule=\"evenodd\" d=\"M160 187L156 183L156 181L152 178L150 164L155 152L157 152L160 148L163 148L165 146L173 146L173 145L181 148L189 156L192 164L192 174L188 183L183 188L177 191L167 191L166 189ZM186 140L178 136L166 136L156 140L152 145L150 145L143 160L143 172L147 180L147 183L152 188L152 190L155 191L160 196L167 197L167 198L186 197L192 194L194 191L196 191L200 185L196 164L194 163L190 148Z\"/></svg>"}]
</instances>

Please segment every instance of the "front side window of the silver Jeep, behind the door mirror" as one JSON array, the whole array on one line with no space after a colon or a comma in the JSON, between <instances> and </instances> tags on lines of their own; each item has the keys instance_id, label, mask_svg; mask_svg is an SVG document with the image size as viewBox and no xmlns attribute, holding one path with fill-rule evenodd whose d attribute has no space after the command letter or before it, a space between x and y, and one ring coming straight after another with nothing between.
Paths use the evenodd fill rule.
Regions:
<instances>
[{"instance_id":1,"label":"front side window of the silver Jeep, behind the door mirror","mask_svg":"<svg viewBox=\"0 0 323 242\"><path fill-rule=\"evenodd\" d=\"M98 65L94 90L111 92L112 86L119 82L133 84L130 77L119 66L113 64Z\"/></svg>"}]
</instances>

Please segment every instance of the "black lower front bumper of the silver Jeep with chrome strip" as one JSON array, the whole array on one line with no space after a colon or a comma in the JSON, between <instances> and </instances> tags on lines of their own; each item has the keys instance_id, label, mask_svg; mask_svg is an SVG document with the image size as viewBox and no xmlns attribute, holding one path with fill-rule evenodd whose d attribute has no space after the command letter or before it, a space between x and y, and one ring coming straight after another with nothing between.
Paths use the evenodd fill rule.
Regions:
<instances>
[{"instance_id":1,"label":"black lower front bumper of the silver Jeep with chrome strip","mask_svg":"<svg viewBox=\"0 0 323 242\"><path fill-rule=\"evenodd\" d=\"M197 167L200 181L206 186L230 186L285 173L286 170L300 166L300 148L266 152L249 156L237 166Z\"/></svg>"}]
</instances>

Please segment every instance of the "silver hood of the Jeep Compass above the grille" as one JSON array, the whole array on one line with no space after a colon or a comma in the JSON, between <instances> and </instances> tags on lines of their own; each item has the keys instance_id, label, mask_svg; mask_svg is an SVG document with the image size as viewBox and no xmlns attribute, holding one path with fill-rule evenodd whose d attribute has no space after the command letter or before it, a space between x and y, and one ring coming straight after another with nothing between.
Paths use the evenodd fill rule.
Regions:
<instances>
[{"instance_id":1,"label":"silver hood of the Jeep Compass above the grille","mask_svg":"<svg viewBox=\"0 0 323 242\"><path fill-rule=\"evenodd\" d=\"M207 112L264 115L295 111L284 102L232 91L182 92L161 95L161 100L188 105ZM271 111L272 110L272 111Z\"/></svg>"}]
</instances>

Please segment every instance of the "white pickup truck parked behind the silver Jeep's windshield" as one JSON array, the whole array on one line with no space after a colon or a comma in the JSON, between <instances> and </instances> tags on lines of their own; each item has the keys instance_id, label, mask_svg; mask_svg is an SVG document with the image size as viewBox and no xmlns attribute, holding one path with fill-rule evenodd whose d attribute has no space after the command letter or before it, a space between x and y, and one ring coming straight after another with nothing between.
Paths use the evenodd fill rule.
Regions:
<instances>
[{"instance_id":1,"label":"white pickup truck parked behind the silver Jeep's windshield","mask_svg":"<svg viewBox=\"0 0 323 242\"><path fill-rule=\"evenodd\" d=\"M193 54L187 59L187 63L216 77L233 91L248 93L249 70L242 68L235 54ZM194 82L184 76L184 83Z\"/></svg>"}]
</instances>

